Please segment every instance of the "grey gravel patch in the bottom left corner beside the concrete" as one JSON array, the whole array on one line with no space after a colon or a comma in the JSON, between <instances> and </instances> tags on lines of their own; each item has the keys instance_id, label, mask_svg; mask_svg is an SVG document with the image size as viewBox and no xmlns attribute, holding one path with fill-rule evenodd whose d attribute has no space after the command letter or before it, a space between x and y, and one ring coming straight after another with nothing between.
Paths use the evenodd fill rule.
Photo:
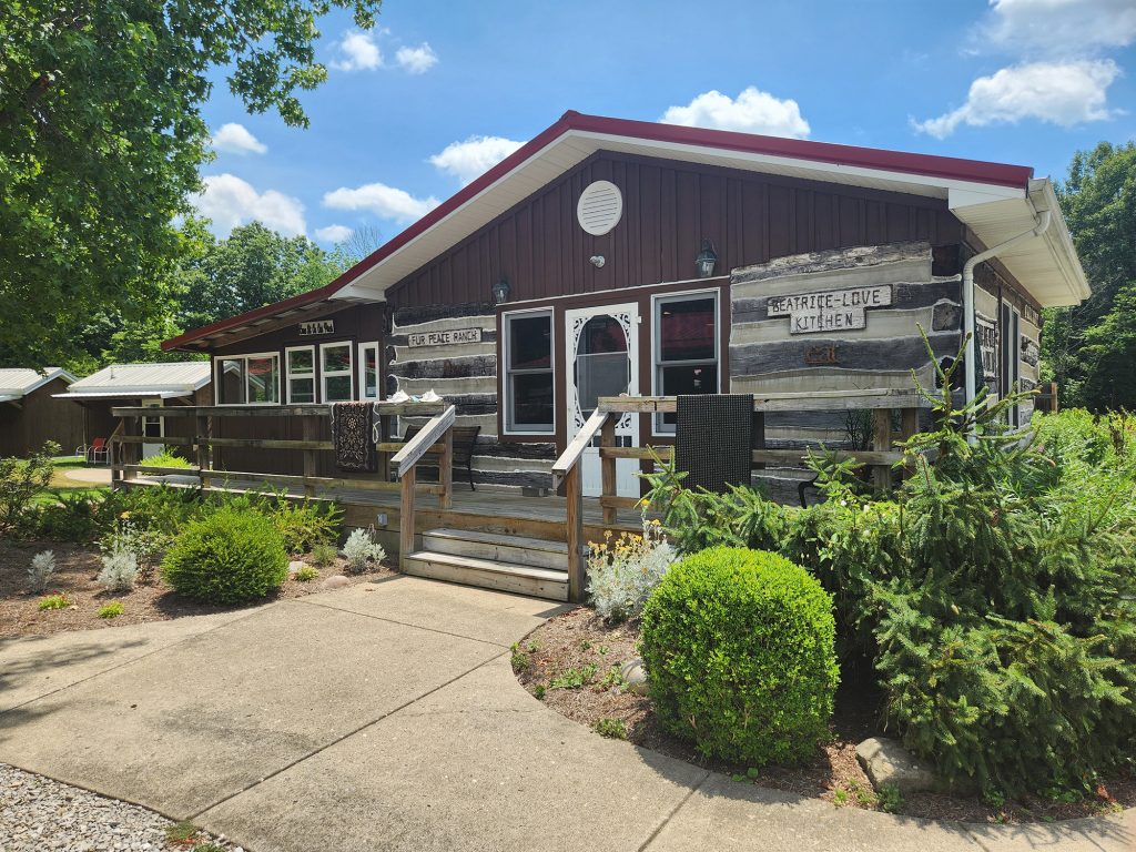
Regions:
<instances>
[{"instance_id":1,"label":"grey gravel patch in the bottom left corner beside the concrete","mask_svg":"<svg viewBox=\"0 0 1136 852\"><path fill-rule=\"evenodd\" d=\"M169 843L174 822L153 811L0 763L0 850L3 852L192 852L195 846L245 852L204 832Z\"/></svg>"}]
</instances>

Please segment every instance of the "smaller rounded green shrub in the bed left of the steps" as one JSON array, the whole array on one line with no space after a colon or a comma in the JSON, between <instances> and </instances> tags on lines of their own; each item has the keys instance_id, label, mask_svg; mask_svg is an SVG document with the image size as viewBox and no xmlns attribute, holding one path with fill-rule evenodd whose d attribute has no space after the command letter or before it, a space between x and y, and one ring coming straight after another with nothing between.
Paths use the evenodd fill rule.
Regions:
<instances>
[{"instance_id":1,"label":"smaller rounded green shrub in the bed left of the steps","mask_svg":"<svg viewBox=\"0 0 1136 852\"><path fill-rule=\"evenodd\" d=\"M166 551L161 571L187 598L243 603L279 588L287 579L287 553L268 518L220 509L185 528Z\"/></svg>"}]
</instances>

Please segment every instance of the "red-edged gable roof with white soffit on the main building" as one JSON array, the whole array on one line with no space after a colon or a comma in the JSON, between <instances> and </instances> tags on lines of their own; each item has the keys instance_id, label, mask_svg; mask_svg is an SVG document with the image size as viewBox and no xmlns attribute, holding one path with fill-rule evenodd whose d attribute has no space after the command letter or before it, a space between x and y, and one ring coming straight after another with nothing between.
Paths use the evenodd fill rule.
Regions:
<instances>
[{"instance_id":1,"label":"red-edged gable roof with white soffit on the main building","mask_svg":"<svg viewBox=\"0 0 1136 852\"><path fill-rule=\"evenodd\" d=\"M1043 239L999 259L1043 306L1076 304L1089 293L1053 186L1026 166L569 111L329 284L186 332L162 348L203 346L334 301L383 301L391 285L600 150L943 199L987 247L1028 231L1041 210L1051 210L1054 224Z\"/></svg>"}]
</instances>

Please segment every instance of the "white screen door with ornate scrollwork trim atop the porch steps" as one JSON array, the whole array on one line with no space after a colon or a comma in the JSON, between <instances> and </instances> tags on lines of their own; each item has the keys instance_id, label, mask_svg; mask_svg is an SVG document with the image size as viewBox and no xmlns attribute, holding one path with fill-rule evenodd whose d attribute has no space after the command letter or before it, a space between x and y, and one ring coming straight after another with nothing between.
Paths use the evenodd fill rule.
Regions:
<instances>
[{"instance_id":1,"label":"white screen door with ornate scrollwork trim atop the porch steps","mask_svg":"<svg viewBox=\"0 0 1136 852\"><path fill-rule=\"evenodd\" d=\"M605 304L565 311L568 440L595 411L600 396L638 394L638 308ZM626 414L616 424L616 444L638 445L638 416ZM580 481L584 494L599 496L602 488L600 436L584 450ZM616 491L620 496L638 496L636 459L616 461Z\"/></svg>"}]
</instances>

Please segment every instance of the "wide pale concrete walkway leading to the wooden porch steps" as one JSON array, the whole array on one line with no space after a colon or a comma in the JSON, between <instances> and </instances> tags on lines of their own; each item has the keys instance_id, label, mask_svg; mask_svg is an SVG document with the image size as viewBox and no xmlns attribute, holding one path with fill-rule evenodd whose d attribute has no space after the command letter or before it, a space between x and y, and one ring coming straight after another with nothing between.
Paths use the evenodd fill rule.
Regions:
<instances>
[{"instance_id":1,"label":"wide pale concrete walkway leading to the wooden porch steps","mask_svg":"<svg viewBox=\"0 0 1136 852\"><path fill-rule=\"evenodd\" d=\"M256 852L1136 849L1136 812L964 826L735 784L548 710L509 645L559 611L412 577L0 640L0 762Z\"/></svg>"}]
</instances>

